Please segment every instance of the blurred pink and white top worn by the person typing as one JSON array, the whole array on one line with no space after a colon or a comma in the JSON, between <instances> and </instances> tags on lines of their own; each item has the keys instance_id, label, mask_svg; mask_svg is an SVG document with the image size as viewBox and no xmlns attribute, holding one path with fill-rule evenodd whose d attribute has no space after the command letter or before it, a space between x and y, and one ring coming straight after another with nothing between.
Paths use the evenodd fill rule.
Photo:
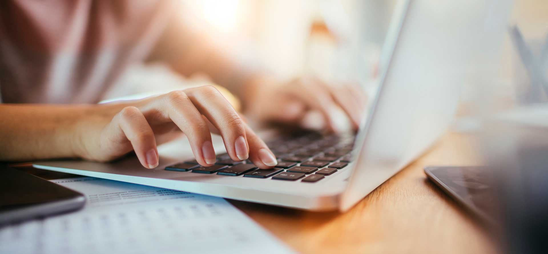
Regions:
<instances>
[{"instance_id":1,"label":"blurred pink and white top worn by the person typing","mask_svg":"<svg viewBox=\"0 0 548 254\"><path fill-rule=\"evenodd\" d=\"M168 0L0 1L4 103L96 103L150 53Z\"/></svg>"}]
</instances>

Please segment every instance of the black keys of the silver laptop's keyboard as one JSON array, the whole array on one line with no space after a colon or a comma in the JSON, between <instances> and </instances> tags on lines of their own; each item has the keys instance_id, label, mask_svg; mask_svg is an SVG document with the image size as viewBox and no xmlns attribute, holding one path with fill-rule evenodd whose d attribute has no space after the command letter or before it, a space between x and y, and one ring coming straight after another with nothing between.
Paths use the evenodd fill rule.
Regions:
<instances>
[{"instance_id":1,"label":"black keys of the silver laptop's keyboard","mask_svg":"<svg viewBox=\"0 0 548 254\"><path fill-rule=\"evenodd\" d=\"M322 135L318 132L281 136L267 142L278 158L278 165L273 169L258 169L249 160L233 161L225 153L217 156L213 166L204 167L196 160L190 160L167 166L165 170L315 183L345 169L351 161L355 138L355 134Z\"/></svg>"}]
</instances>

